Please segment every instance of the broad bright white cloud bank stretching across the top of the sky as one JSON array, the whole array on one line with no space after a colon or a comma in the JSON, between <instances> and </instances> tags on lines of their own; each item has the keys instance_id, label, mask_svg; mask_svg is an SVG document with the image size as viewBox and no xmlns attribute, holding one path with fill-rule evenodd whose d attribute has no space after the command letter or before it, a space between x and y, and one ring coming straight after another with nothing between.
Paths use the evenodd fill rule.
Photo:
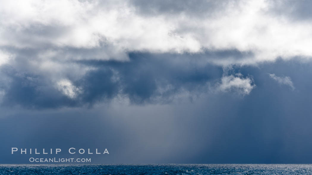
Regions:
<instances>
[{"instance_id":1,"label":"broad bright white cloud bank stretching across the top of the sky","mask_svg":"<svg viewBox=\"0 0 312 175\"><path fill-rule=\"evenodd\" d=\"M255 64L277 57L312 57L312 24L269 13L265 0L225 2L224 9L201 16L185 12L144 15L130 1L3 1L0 47L59 49L103 48L89 56L126 60L127 51L200 53L210 50L252 51L243 60L217 64ZM109 48L109 49L107 49ZM70 54L68 52L67 54ZM63 59L85 59L68 55Z\"/></svg>"}]
</instances>

